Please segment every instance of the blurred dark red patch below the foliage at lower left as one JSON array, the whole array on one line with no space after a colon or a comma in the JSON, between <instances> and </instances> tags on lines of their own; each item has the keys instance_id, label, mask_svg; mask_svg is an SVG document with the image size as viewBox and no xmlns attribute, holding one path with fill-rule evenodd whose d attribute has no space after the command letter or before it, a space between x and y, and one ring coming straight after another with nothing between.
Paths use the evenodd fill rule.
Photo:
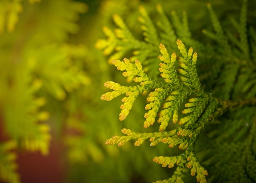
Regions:
<instances>
[{"instance_id":1,"label":"blurred dark red patch below the foliage at lower left","mask_svg":"<svg viewBox=\"0 0 256 183\"><path fill-rule=\"evenodd\" d=\"M8 140L2 129L0 120L0 142ZM17 150L16 162L21 183L63 183L65 166L62 144L53 137L47 156L43 156L40 152ZM5 182L0 181L0 183Z\"/></svg>"}]
</instances>

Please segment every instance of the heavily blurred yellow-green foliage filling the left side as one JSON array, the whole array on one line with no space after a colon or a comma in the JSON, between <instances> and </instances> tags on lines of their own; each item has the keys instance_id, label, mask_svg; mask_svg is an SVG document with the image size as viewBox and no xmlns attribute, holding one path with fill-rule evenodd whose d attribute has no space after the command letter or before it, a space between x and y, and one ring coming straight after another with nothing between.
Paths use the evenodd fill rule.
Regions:
<instances>
[{"instance_id":1,"label":"heavily blurred yellow-green foliage filling the left side","mask_svg":"<svg viewBox=\"0 0 256 183\"><path fill-rule=\"evenodd\" d=\"M61 103L90 83L77 66L79 46L67 43L86 9L69 0L0 2L1 181L20 182L17 151L49 154L54 125L47 120L61 108L49 103Z\"/></svg>"}]
</instances>

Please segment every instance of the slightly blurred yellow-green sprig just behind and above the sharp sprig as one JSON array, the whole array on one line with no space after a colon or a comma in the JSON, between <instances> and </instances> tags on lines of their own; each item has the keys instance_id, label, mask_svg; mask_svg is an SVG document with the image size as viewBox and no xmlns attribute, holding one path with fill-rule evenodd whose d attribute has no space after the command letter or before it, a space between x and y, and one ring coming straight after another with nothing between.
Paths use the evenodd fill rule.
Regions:
<instances>
[{"instance_id":1,"label":"slightly blurred yellow-green sprig just behind and above the sharp sprig","mask_svg":"<svg viewBox=\"0 0 256 183\"><path fill-rule=\"evenodd\" d=\"M173 20L172 25L159 4L157 5L157 12L161 18L156 26L148 15L145 7L139 7L140 16L138 20L141 24L144 41L135 38L124 20L119 15L114 14L113 20L118 28L112 31L108 27L103 27L103 33L106 35L107 39L97 40L95 44L96 48L102 49L104 55L110 55L108 59L109 63L111 63L113 59L123 58L125 55L132 52L132 56L129 57L129 60L131 62L134 62L136 59L139 60L144 65L144 70L148 71L151 78L155 79L158 72L155 72L155 70L151 71L151 69L157 66L155 57L157 56L157 46L159 43L164 43L168 46L169 50L177 50L173 44L177 40L174 28L177 29L179 38L189 42L192 40L186 13L183 13L183 18L180 20L173 11L171 14Z\"/></svg>"}]
</instances>

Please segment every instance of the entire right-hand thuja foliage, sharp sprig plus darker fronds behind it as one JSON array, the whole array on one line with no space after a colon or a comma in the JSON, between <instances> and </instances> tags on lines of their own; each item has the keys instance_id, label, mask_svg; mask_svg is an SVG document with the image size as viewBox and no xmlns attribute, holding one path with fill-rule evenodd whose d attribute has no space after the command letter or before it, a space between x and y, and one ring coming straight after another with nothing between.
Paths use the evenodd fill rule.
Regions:
<instances>
[{"instance_id":1,"label":"entire right-hand thuja foliage, sharp sprig plus darker fronds behind it","mask_svg":"<svg viewBox=\"0 0 256 183\"><path fill-rule=\"evenodd\" d=\"M139 7L144 41L135 38L116 14L113 19L119 28L115 32L103 28L108 39L99 40L96 46L104 54L111 54L109 60L130 56L132 51L129 59L114 59L112 64L136 84L107 81L104 86L113 91L101 99L110 101L126 95L121 99L119 114L119 120L124 121L138 96L148 94L144 128L159 123L158 131L123 128L124 136L115 135L106 144L121 147L135 140L134 145L139 146L149 140L150 146L178 146L180 151L175 156L153 158L162 167L174 169L170 178L156 183L256 181L256 42L254 27L247 22L247 1L242 4L240 19L231 18L230 30L222 28L211 4L207 4L213 31L203 33L214 41L209 45L191 38L186 13L179 20L173 11L169 21L160 5L158 29L146 9ZM181 40L194 44L202 56L192 47L187 49ZM198 60L202 60L199 66ZM189 173L196 179L191 179Z\"/></svg>"}]
</instances>

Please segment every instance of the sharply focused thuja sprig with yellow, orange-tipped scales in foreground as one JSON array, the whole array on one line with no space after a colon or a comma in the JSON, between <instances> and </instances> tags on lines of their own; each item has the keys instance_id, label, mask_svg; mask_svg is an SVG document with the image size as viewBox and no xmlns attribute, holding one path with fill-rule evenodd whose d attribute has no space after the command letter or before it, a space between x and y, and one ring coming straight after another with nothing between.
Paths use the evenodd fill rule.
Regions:
<instances>
[{"instance_id":1,"label":"sharply focused thuja sprig with yellow, orange-tipped scales in foreground","mask_svg":"<svg viewBox=\"0 0 256 183\"><path fill-rule=\"evenodd\" d=\"M162 164L163 167L171 168L175 164L178 165L169 181L181 182L181 175L187 163L186 167L191 168L191 175L197 174L198 181L206 182L205 175L208 173L198 162L194 146L205 122L209 121L209 116L215 112L218 102L201 87L195 68L197 53L193 52L192 47L187 51L181 40L177 40L177 47L181 56L176 53L170 55L163 44L159 45L161 55L158 58L162 61L159 64L159 71L164 80L148 77L139 60L135 60L135 63L127 58L124 58L124 61L112 61L118 70L124 71L123 76L134 76L133 80L139 85L128 87L108 81L104 85L113 91L103 94L101 99L109 101L121 94L126 94L122 99L123 104L119 114L119 119L122 121L128 116L139 94L154 89L148 94L148 104L145 107L148 112L144 114L146 118L144 127L153 125L155 121L160 123L160 126L159 132L152 133L135 133L130 129L122 129L126 136L113 136L106 141L106 144L122 146L135 139L135 145L139 146L149 139L152 146L158 143L166 143L169 147L178 146L184 150L179 156L154 158L154 161ZM177 60L179 68L175 66ZM188 100L188 103L184 104L184 100ZM184 105L185 109L182 110L183 115L179 117L181 105ZM166 131L169 121L178 122L179 127Z\"/></svg>"}]
</instances>

